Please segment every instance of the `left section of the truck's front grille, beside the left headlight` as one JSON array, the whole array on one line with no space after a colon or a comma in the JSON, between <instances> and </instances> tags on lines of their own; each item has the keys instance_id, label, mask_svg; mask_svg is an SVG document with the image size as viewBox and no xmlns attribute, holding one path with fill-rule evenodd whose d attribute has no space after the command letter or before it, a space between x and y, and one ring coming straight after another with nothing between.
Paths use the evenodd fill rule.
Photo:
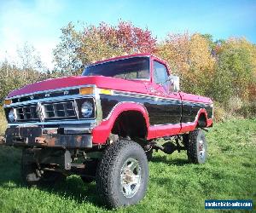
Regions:
<instances>
[{"instance_id":1,"label":"left section of the truck's front grille, beside the left headlight","mask_svg":"<svg viewBox=\"0 0 256 213\"><path fill-rule=\"evenodd\" d=\"M39 119L37 105L15 108L18 121Z\"/></svg>"}]
</instances>

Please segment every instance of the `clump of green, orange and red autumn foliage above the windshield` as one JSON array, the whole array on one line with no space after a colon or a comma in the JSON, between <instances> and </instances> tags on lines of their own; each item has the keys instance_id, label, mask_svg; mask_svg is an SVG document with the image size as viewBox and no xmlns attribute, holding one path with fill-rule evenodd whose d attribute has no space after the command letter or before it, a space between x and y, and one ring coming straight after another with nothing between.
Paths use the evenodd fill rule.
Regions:
<instances>
[{"instance_id":1,"label":"clump of green, orange and red autumn foliage above the windshield","mask_svg":"<svg viewBox=\"0 0 256 213\"><path fill-rule=\"evenodd\" d=\"M153 53L156 38L148 29L120 21L117 26L102 22L83 26L77 31L73 23L61 29L61 43L54 50L57 70L65 75L81 73L81 66L95 60L137 52Z\"/></svg>"}]
</instances>

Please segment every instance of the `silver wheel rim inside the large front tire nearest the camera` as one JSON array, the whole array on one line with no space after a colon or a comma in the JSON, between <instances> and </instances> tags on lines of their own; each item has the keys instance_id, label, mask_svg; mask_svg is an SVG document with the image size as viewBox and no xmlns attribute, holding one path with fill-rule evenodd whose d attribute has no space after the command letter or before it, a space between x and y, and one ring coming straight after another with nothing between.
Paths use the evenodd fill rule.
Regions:
<instances>
[{"instance_id":1,"label":"silver wheel rim inside the large front tire nearest the camera","mask_svg":"<svg viewBox=\"0 0 256 213\"><path fill-rule=\"evenodd\" d=\"M142 171L137 159L128 158L120 173L121 192L125 198L131 198L137 193L141 179Z\"/></svg>"}]
</instances>

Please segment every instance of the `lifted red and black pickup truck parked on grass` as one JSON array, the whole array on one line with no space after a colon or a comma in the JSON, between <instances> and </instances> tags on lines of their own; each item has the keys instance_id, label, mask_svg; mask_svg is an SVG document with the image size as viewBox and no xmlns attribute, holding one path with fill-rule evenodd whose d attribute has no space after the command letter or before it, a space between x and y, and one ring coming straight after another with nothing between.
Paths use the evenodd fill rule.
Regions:
<instances>
[{"instance_id":1,"label":"lifted red and black pickup truck parked on grass","mask_svg":"<svg viewBox=\"0 0 256 213\"><path fill-rule=\"evenodd\" d=\"M179 78L150 54L101 60L82 76L26 85L8 95L4 110L2 143L23 149L27 184L77 174L96 180L112 207L143 199L153 150L186 150L190 162L204 163L203 130L212 126L211 99L180 91Z\"/></svg>"}]
</instances>

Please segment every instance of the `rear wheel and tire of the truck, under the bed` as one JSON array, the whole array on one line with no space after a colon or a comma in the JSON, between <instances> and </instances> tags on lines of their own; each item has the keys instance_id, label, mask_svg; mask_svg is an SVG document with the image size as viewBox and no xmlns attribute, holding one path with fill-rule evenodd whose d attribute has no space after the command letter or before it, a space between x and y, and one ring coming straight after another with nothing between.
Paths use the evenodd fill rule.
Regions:
<instances>
[{"instance_id":1,"label":"rear wheel and tire of the truck, under the bed","mask_svg":"<svg viewBox=\"0 0 256 213\"><path fill-rule=\"evenodd\" d=\"M207 160L207 140L203 130L197 129L189 133L185 141L189 162L204 164Z\"/></svg>"}]
</instances>

